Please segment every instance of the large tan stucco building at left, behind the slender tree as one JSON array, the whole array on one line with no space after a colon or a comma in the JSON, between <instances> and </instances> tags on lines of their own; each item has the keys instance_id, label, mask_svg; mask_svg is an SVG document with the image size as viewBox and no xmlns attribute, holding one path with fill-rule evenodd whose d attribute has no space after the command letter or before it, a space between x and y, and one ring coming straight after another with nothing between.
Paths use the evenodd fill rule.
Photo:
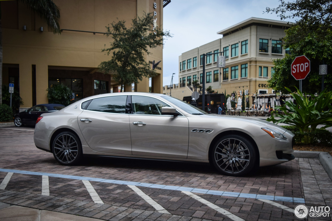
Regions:
<instances>
[{"instance_id":1,"label":"large tan stucco building at left, behind the slender tree","mask_svg":"<svg viewBox=\"0 0 332 221\"><path fill-rule=\"evenodd\" d=\"M110 60L102 49L112 41L106 26L153 13L163 26L162 0L53 0L60 8L61 35L53 34L37 14L23 3L2 1L3 84L14 83L24 105L48 103L46 89L63 83L74 92L74 100L100 93L118 91L111 75L98 71L102 61ZM83 31L83 32L82 32ZM151 49L147 62L161 61L162 46ZM152 65L151 65L152 68ZM162 93L162 68L152 79L152 91ZM131 85L125 90L131 91ZM149 92L149 79L135 85L135 91Z\"/></svg>"}]
</instances>

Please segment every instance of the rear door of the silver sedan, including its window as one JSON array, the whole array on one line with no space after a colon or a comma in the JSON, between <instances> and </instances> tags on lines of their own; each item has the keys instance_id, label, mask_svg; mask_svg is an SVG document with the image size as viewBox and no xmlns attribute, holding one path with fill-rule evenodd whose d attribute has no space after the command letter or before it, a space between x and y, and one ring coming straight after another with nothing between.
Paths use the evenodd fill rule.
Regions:
<instances>
[{"instance_id":1,"label":"rear door of the silver sedan, including its window","mask_svg":"<svg viewBox=\"0 0 332 221\"><path fill-rule=\"evenodd\" d=\"M127 96L96 98L82 104L78 125L91 149L112 154L131 155Z\"/></svg>"}]
</instances>

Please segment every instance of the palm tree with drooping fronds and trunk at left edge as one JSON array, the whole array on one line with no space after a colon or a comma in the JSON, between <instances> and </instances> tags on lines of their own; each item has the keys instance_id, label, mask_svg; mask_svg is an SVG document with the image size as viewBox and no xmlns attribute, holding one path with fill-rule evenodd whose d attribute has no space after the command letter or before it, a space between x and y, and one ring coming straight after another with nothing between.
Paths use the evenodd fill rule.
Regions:
<instances>
[{"instance_id":1,"label":"palm tree with drooping fronds and trunk at left edge","mask_svg":"<svg viewBox=\"0 0 332 221\"><path fill-rule=\"evenodd\" d=\"M47 22L54 34L61 34L59 26L60 9L52 0L19 0L30 10L37 13ZM2 104L2 25L1 25L1 2L0 2L0 105Z\"/></svg>"}]
</instances>

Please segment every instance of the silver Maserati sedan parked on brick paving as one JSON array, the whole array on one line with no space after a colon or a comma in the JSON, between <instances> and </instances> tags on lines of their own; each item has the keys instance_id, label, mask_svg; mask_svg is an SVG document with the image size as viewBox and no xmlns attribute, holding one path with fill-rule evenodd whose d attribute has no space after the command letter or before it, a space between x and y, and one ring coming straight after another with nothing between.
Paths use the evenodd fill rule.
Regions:
<instances>
[{"instance_id":1,"label":"silver Maserati sedan parked on brick paving","mask_svg":"<svg viewBox=\"0 0 332 221\"><path fill-rule=\"evenodd\" d=\"M264 120L207 114L167 95L128 92L42 114L34 141L62 165L89 155L149 158L210 163L224 175L243 176L294 159L293 136Z\"/></svg>"}]
</instances>

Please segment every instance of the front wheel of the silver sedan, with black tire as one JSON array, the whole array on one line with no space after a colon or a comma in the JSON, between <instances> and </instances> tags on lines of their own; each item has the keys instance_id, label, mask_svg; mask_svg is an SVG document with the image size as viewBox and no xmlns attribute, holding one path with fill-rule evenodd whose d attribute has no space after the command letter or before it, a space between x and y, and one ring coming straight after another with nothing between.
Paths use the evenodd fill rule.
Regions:
<instances>
[{"instance_id":1,"label":"front wheel of the silver sedan, with black tire","mask_svg":"<svg viewBox=\"0 0 332 221\"><path fill-rule=\"evenodd\" d=\"M225 135L213 146L213 166L227 176L244 176L257 164L258 153L253 144L239 135Z\"/></svg>"}]
</instances>

